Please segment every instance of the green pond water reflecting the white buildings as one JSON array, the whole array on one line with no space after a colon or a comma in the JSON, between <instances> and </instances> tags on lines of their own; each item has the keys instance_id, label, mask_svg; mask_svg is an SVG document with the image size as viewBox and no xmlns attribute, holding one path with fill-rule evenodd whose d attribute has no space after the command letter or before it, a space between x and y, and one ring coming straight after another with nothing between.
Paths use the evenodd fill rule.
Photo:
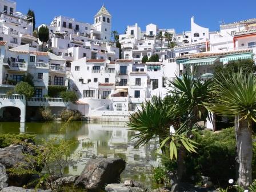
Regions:
<instances>
[{"instance_id":1,"label":"green pond water reflecting the white buildings","mask_svg":"<svg viewBox=\"0 0 256 192\"><path fill-rule=\"evenodd\" d=\"M61 122L0 122L1 133L32 133L36 142L56 136L63 127ZM155 158L157 144L151 141L149 145L134 149L134 131L129 130L123 122L70 122L62 129L61 137L75 141L72 147L74 165L65 169L66 174L78 175L86 162L96 157L121 157L126 161L126 169L121 174L121 180L134 179L146 187L158 187L153 182L152 167L158 165Z\"/></svg>"}]
</instances>

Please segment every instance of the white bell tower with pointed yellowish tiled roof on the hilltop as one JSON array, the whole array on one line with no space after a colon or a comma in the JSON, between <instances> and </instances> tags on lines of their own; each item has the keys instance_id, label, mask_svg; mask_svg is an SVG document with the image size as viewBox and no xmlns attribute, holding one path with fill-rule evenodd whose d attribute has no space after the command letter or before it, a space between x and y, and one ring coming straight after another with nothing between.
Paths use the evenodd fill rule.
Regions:
<instances>
[{"instance_id":1,"label":"white bell tower with pointed yellowish tiled roof on the hilltop","mask_svg":"<svg viewBox=\"0 0 256 192\"><path fill-rule=\"evenodd\" d=\"M102 41L110 41L111 39L111 15L106 7L102 5L101 9L94 16L95 30L101 32Z\"/></svg>"}]
</instances>

